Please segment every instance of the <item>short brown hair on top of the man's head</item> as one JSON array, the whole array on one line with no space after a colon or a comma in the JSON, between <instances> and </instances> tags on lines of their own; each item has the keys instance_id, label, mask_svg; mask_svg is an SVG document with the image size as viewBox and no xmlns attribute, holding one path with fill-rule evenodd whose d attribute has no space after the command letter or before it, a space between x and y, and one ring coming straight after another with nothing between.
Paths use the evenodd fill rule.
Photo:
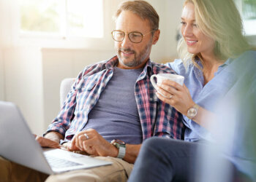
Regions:
<instances>
[{"instance_id":1,"label":"short brown hair on top of the man's head","mask_svg":"<svg viewBox=\"0 0 256 182\"><path fill-rule=\"evenodd\" d=\"M114 15L114 19L116 20L123 11L131 11L141 17L143 20L149 20L151 30L158 30L159 15L154 7L152 7L147 1L124 1L119 5L116 15Z\"/></svg>"}]
</instances>

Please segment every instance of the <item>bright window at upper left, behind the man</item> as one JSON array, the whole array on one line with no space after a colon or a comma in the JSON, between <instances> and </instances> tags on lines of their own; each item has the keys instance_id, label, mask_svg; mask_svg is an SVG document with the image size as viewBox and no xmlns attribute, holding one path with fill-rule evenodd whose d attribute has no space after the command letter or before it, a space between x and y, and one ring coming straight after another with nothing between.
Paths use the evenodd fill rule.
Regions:
<instances>
[{"instance_id":1,"label":"bright window at upper left, behind the man","mask_svg":"<svg viewBox=\"0 0 256 182\"><path fill-rule=\"evenodd\" d=\"M20 33L103 37L103 0L20 0Z\"/></svg>"}]
</instances>

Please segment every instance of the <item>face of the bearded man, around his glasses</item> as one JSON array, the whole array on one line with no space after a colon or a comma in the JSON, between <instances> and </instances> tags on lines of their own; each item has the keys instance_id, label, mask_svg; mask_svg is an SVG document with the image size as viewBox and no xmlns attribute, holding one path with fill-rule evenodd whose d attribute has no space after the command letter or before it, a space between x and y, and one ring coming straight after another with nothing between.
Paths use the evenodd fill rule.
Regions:
<instances>
[{"instance_id":1,"label":"face of the bearded man, around his glasses","mask_svg":"<svg viewBox=\"0 0 256 182\"><path fill-rule=\"evenodd\" d=\"M118 56L118 67L125 69L142 68L149 58L152 44L157 43L155 36L152 37L150 23L130 11L123 11L116 20L116 30L123 31L123 41L115 41L115 49ZM140 43L129 40L128 33L138 31L146 34Z\"/></svg>"}]
</instances>

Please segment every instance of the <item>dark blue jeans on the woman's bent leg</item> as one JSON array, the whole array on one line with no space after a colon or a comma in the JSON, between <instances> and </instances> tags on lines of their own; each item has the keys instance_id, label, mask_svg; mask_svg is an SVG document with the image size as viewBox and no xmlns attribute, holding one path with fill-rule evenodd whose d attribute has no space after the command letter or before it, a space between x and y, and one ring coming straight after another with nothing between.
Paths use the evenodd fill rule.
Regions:
<instances>
[{"instance_id":1,"label":"dark blue jeans on the woman's bent leg","mask_svg":"<svg viewBox=\"0 0 256 182\"><path fill-rule=\"evenodd\" d=\"M198 168L201 157L197 150L206 145L201 142L178 141L170 138L148 138L141 146L129 182L198 182L198 174L203 170ZM236 171L231 162L227 161L227 164L230 173ZM211 164L208 167L211 167Z\"/></svg>"}]
</instances>

